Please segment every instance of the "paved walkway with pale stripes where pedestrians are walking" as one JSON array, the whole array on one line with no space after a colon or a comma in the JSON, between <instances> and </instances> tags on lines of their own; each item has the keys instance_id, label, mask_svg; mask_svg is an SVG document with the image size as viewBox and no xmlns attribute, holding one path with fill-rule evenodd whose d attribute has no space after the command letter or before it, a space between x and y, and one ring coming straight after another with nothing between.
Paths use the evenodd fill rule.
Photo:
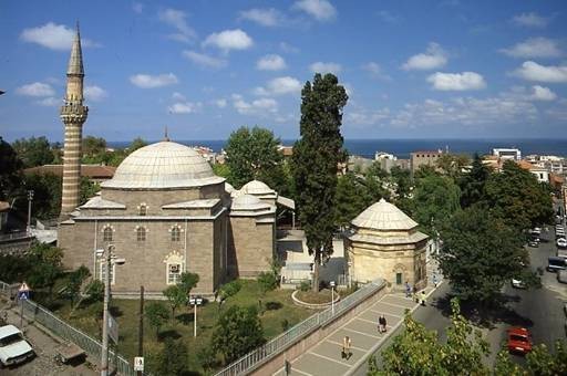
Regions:
<instances>
[{"instance_id":1,"label":"paved walkway with pale stripes where pedestrians are walking","mask_svg":"<svg viewBox=\"0 0 567 376\"><path fill-rule=\"evenodd\" d=\"M433 292L433 286L425 289L426 296ZM340 376L355 370L360 362L364 362L369 354L385 341L391 333L403 323L405 310L415 310L419 306L403 292L390 293L380 297L374 304L351 318L336 330L323 341L311 347L303 355L291 362L292 376ZM386 333L379 333L378 317L383 314L386 320ZM343 338L349 336L352 341L352 356L341 356ZM275 375L286 375L280 369Z\"/></svg>"}]
</instances>

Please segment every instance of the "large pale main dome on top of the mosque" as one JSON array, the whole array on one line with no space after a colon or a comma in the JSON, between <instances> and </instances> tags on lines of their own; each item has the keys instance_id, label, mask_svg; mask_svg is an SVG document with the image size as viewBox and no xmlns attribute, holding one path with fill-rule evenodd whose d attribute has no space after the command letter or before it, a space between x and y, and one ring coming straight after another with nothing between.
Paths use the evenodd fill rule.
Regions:
<instances>
[{"instance_id":1,"label":"large pale main dome on top of the mosque","mask_svg":"<svg viewBox=\"0 0 567 376\"><path fill-rule=\"evenodd\" d=\"M127 156L104 188L161 189L223 182L193 148L172 142L144 146Z\"/></svg>"}]
</instances>

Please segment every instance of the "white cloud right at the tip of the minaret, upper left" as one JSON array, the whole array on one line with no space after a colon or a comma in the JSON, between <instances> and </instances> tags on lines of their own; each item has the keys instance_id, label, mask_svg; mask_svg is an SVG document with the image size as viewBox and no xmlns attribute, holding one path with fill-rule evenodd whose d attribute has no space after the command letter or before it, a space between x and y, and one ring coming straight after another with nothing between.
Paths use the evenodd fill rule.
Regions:
<instances>
[{"instance_id":1,"label":"white cloud right at the tip of the minaret, upper left","mask_svg":"<svg viewBox=\"0 0 567 376\"><path fill-rule=\"evenodd\" d=\"M64 24L53 22L45 23L42 27L24 29L20 39L25 42L38 43L51 50L70 50L75 31ZM81 38L82 46L99 46L97 43L89 39Z\"/></svg>"}]
</instances>

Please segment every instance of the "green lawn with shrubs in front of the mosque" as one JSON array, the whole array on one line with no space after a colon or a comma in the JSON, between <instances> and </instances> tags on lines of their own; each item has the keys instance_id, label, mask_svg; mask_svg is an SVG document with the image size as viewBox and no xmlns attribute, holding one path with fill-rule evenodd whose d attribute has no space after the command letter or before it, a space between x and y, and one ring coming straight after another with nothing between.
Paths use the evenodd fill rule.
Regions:
<instances>
[{"instance_id":1,"label":"green lawn with shrubs in front of the mosque","mask_svg":"<svg viewBox=\"0 0 567 376\"><path fill-rule=\"evenodd\" d=\"M231 305L259 306L260 296L265 310L261 315L265 337L272 338L284 332L284 321L287 321L287 325L290 327L315 313L312 310L295 305L291 300L291 290L275 290L261 296L256 281L243 280L240 291L235 296L229 297L220 309L215 302L198 307L197 338L193 337L193 309L189 307L176 310L176 320L169 320L161 328L161 341L156 337L155 328L145 322L144 353L148 357L147 363L151 364L153 356L162 349L165 337L179 338L188 347L190 370L203 373L197 354L209 344L219 314ZM146 301L145 305L147 306L148 303L150 301ZM167 304L166 301L164 303ZM71 325L81 328L93 337L101 337L102 303L81 306L73 312L71 312L70 304L66 301L55 301L49 306ZM120 328L118 352L128 361L133 361L137 353L138 311L138 300L113 300L112 302L112 313L117 318Z\"/></svg>"}]
</instances>

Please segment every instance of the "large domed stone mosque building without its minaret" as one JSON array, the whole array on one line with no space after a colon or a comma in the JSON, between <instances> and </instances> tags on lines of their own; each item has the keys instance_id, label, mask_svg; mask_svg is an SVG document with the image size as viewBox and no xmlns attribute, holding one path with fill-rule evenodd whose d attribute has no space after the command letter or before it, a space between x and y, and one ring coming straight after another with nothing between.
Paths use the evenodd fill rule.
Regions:
<instances>
[{"instance_id":1,"label":"large domed stone mosque building without its minaret","mask_svg":"<svg viewBox=\"0 0 567 376\"><path fill-rule=\"evenodd\" d=\"M231 199L227 190L193 148L169 140L142 147L101 185L99 196L60 223L64 264L85 265L102 279L104 262L95 250L112 243L126 261L111 271L116 295L136 294L141 285L161 295L185 271L199 274L196 293L213 294L230 278L269 270L275 201L243 191Z\"/></svg>"}]
</instances>

